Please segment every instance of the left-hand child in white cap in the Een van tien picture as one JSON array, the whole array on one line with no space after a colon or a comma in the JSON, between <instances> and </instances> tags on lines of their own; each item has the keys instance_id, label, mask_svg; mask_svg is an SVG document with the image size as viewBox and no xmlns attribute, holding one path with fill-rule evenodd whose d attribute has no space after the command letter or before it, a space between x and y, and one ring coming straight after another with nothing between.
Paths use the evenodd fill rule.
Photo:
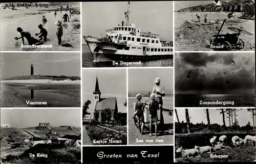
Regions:
<instances>
[{"instance_id":1,"label":"left-hand child in white cap in the Een van tien picture","mask_svg":"<svg viewBox=\"0 0 256 164\"><path fill-rule=\"evenodd\" d=\"M141 122L141 128L140 129L140 133L143 134L143 127L144 127L144 105L143 102L140 102L142 96L141 94L137 94L136 95L136 99L138 100L135 104L135 114L136 114L136 118L138 120L138 127L140 125Z\"/></svg>"}]
</instances>

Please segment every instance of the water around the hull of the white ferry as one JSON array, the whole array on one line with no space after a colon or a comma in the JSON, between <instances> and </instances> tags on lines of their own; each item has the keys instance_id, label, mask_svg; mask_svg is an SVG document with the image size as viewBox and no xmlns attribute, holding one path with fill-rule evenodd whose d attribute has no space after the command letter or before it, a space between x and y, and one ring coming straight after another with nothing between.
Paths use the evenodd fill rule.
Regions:
<instances>
[{"instance_id":1,"label":"water around the hull of the white ferry","mask_svg":"<svg viewBox=\"0 0 256 164\"><path fill-rule=\"evenodd\" d=\"M92 53L87 44L82 45L82 67L173 67L173 59L141 62L141 65L113 65L113 62L93 62Z\"/></svg>"}]
</instances>

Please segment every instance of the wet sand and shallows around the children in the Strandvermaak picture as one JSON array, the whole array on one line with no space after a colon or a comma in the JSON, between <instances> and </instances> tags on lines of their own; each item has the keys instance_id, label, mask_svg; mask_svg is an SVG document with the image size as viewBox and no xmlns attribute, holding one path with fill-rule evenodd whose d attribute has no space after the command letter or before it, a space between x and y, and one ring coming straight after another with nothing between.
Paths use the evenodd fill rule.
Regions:
<instances>
[{"instance_id":1,"label":"wet sand and shallows around the children in the Strandvermaak picture","mask_svg":"<svg viewBox=\"0 0 256 164\"><path fill-rule=\"evenodd\" d=\"M57 7L56 7L57 8ZM75 12L70 15L70 12L67 11L57 11L56 17L54 16L54 10L56 8L34 8L31 7L26 9L25 7L18 7L17 10L11 9L1 9L0 14L0 42L1 50L9 51L79 51L80 50L80 5L72 6ZM58 45L58 39L56 36L57 25L54 23L57 20L62 20L62 16L67 13L70 17L70 22L63 22L63 36L62 43L69 43L72 47L64 47ZM42 24L42 16L45 16L48 20L45 24L45 29L48 31L48 40L42 41L43 45L52 45L52 48L22 48L20 47L22 39L15 40L15 37L20 37L20 33L17 32L17 27L22 28L30 32L31 36L35 39L38 39L38 36L35 36L36 33L39 33L38 25ZM25 45L28 45L27 39L25 39Z\"/></svg>"}]
</instances>

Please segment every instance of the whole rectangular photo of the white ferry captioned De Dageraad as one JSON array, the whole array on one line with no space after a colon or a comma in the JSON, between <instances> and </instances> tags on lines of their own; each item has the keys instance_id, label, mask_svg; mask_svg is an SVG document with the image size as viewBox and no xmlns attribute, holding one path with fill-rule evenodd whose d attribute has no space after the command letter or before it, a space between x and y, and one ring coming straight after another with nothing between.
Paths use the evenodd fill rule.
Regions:
<instances>
[{"instance_id":1,"label":"whole rectangular photo of the white ferry captioned De Dageraad","mask_svg":"<svg viewBox=\"0 0 256 164\"><path fill-rule=\"evenodd\" d=\"M82 19L82 67L173 66L172 1L82 3Z\"/></svg>"}]
</instances>

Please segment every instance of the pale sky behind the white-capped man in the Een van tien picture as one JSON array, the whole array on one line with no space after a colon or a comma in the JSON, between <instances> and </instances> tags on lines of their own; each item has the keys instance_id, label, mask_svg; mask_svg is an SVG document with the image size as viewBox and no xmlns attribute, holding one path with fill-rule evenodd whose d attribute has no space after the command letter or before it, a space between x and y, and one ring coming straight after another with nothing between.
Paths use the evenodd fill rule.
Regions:
<instances>
[{"instance_id":1,"label":"pale sky behind the white-capped man in the Een van tien picture","mask_svg":"<svg viewBox=\"0 0 256 164\"><path fill-rule=\"evenodd\" d=\"M156 77L160 77L165 92L173 93L173 68L129 69L128 91L152 92Z\"/></svg>"}]
</instances>

